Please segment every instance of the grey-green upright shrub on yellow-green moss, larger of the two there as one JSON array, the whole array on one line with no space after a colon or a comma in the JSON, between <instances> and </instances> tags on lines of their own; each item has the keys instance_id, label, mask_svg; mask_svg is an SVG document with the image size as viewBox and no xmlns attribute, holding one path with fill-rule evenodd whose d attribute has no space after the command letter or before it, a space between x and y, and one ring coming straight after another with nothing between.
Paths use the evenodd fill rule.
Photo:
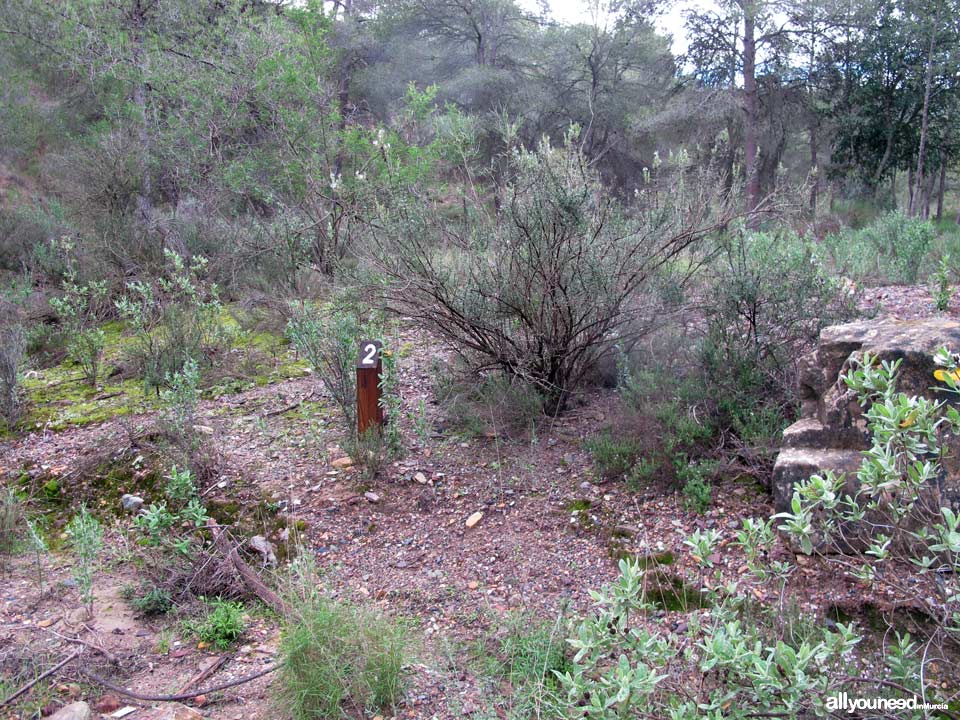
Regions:
<instances>
[{"instance_id":1,"label":"grey-green upright shrub on yellow-green moss, larger of the two there","mask_svg":"<svg viewBox=\"0 0 960 720\"><path fill-rule=\"evenodd\" d=\"M133 360L146 387L158 392L188 361L202 371L233 342L221 319L218 288L204 279L207 260L197 256L187 263L170 250L164 254L165 274L152 283L129 283L116 302L134 332Z\"/></svg>"}]
</instances>

